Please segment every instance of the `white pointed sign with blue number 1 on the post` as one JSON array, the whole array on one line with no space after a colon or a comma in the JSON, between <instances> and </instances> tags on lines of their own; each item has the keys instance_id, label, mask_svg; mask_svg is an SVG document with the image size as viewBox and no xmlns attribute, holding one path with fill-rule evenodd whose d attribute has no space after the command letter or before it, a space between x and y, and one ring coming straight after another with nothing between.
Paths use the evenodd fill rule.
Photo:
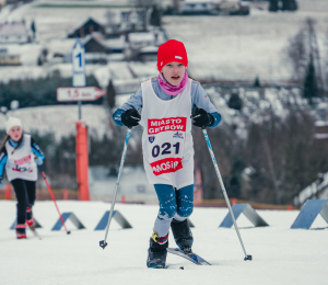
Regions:
<instances>
[{"instance_id":1,"label":"white pointed sign with blue number 1 on the post","mask_svg":"<svg viewBox=\"0 0 328 285\"><path fill-rule=\"evenodd\" d=\"M85 49L78 38L72 49L73 87L85 87Z\"/></svg>"}]
</instances>

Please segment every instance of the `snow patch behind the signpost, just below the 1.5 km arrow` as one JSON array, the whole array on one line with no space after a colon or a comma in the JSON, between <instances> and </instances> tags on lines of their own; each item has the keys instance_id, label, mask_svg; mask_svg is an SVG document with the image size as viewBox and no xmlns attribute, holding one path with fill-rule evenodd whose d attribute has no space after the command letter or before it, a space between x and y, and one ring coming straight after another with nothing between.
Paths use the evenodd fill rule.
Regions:
<instances>
[{"instance_id":1,"label":"snow patch behind the signpost, just below the 1.5 km arrow","mask_svg":"<svg viewBox=\"0 0 328 285\"><path fill-rule=\"evenodd\" d=\"M79 121L78 105L55 105L24 107L8 112L8 116L22 119L25 132L37 129L40 134L55 133L56 139L75 134L75 122ZM82 105L82 121L89 126L89 135L102 138L112 136L109 117L106 109L98 105ZM4 128L5 117L0 116L0 129Z\"/></svg>"}]
</instances>

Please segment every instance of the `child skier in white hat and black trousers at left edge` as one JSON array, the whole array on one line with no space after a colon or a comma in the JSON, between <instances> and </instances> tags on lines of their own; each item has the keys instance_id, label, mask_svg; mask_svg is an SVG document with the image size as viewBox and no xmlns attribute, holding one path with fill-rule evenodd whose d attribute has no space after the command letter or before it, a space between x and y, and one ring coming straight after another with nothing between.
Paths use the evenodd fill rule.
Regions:
<instances>
[{"instance_id":1,"label":"child skier in white hat and black trousers at left edge","mask_svg":"<svg viewBox=\"0 0 328 285\"><path fill-rule=\"evenodd\" d=\"M31 135L23 134L22 122L10 117L5 123L7 137L0 148L0 187L3 187L3 170L11 182L17 198L16 238L26 238L26 225L32 227L32 206L35 202L37 167L45 156ZM36 156L36 159L34 157Z\"/></svg>"}]
</instances>

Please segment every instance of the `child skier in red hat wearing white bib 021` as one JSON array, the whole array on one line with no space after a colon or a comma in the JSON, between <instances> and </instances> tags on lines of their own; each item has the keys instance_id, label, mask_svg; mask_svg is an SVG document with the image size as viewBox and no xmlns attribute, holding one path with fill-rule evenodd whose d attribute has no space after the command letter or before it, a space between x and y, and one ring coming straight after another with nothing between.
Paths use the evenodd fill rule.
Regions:
<instances>
[{"instance_id":1,"label":"child skier in red hat wearing white bib 021","mask_svg":"<svg viewBox=\"0 0 328 285\"><path fill-rule=\"evenodd\" d=\"M187 66L184 44L175 39L164 43L157 52L159 77L142 82L138 92L113 115L119 126L131 128L140 124L144 128L144 170L160 204L148 267L165 267L169 226L179 249L191 253L194 238L187 220L194 209L191 123L213 128L221 121L199 82L188 78ZM141 116L137 111L140 107Z\"/></svg>"}]
</instances>

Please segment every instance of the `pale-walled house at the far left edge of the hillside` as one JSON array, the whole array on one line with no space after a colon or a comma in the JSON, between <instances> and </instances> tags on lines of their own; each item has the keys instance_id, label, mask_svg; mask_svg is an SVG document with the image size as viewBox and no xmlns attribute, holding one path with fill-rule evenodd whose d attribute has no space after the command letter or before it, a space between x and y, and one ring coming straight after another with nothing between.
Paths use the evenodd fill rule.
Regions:
<instances>
[{"instance_id":1,"label":"pale-walled house at the far left edge of the hillside","mask_svg":"<svg viewBox=\"0 0 328 285\"><path fill-rule=\"evenodd\" d=\"M25 21L0 23L0 44L26 44L31 41Z\"/></svg>"}]
</instances>

